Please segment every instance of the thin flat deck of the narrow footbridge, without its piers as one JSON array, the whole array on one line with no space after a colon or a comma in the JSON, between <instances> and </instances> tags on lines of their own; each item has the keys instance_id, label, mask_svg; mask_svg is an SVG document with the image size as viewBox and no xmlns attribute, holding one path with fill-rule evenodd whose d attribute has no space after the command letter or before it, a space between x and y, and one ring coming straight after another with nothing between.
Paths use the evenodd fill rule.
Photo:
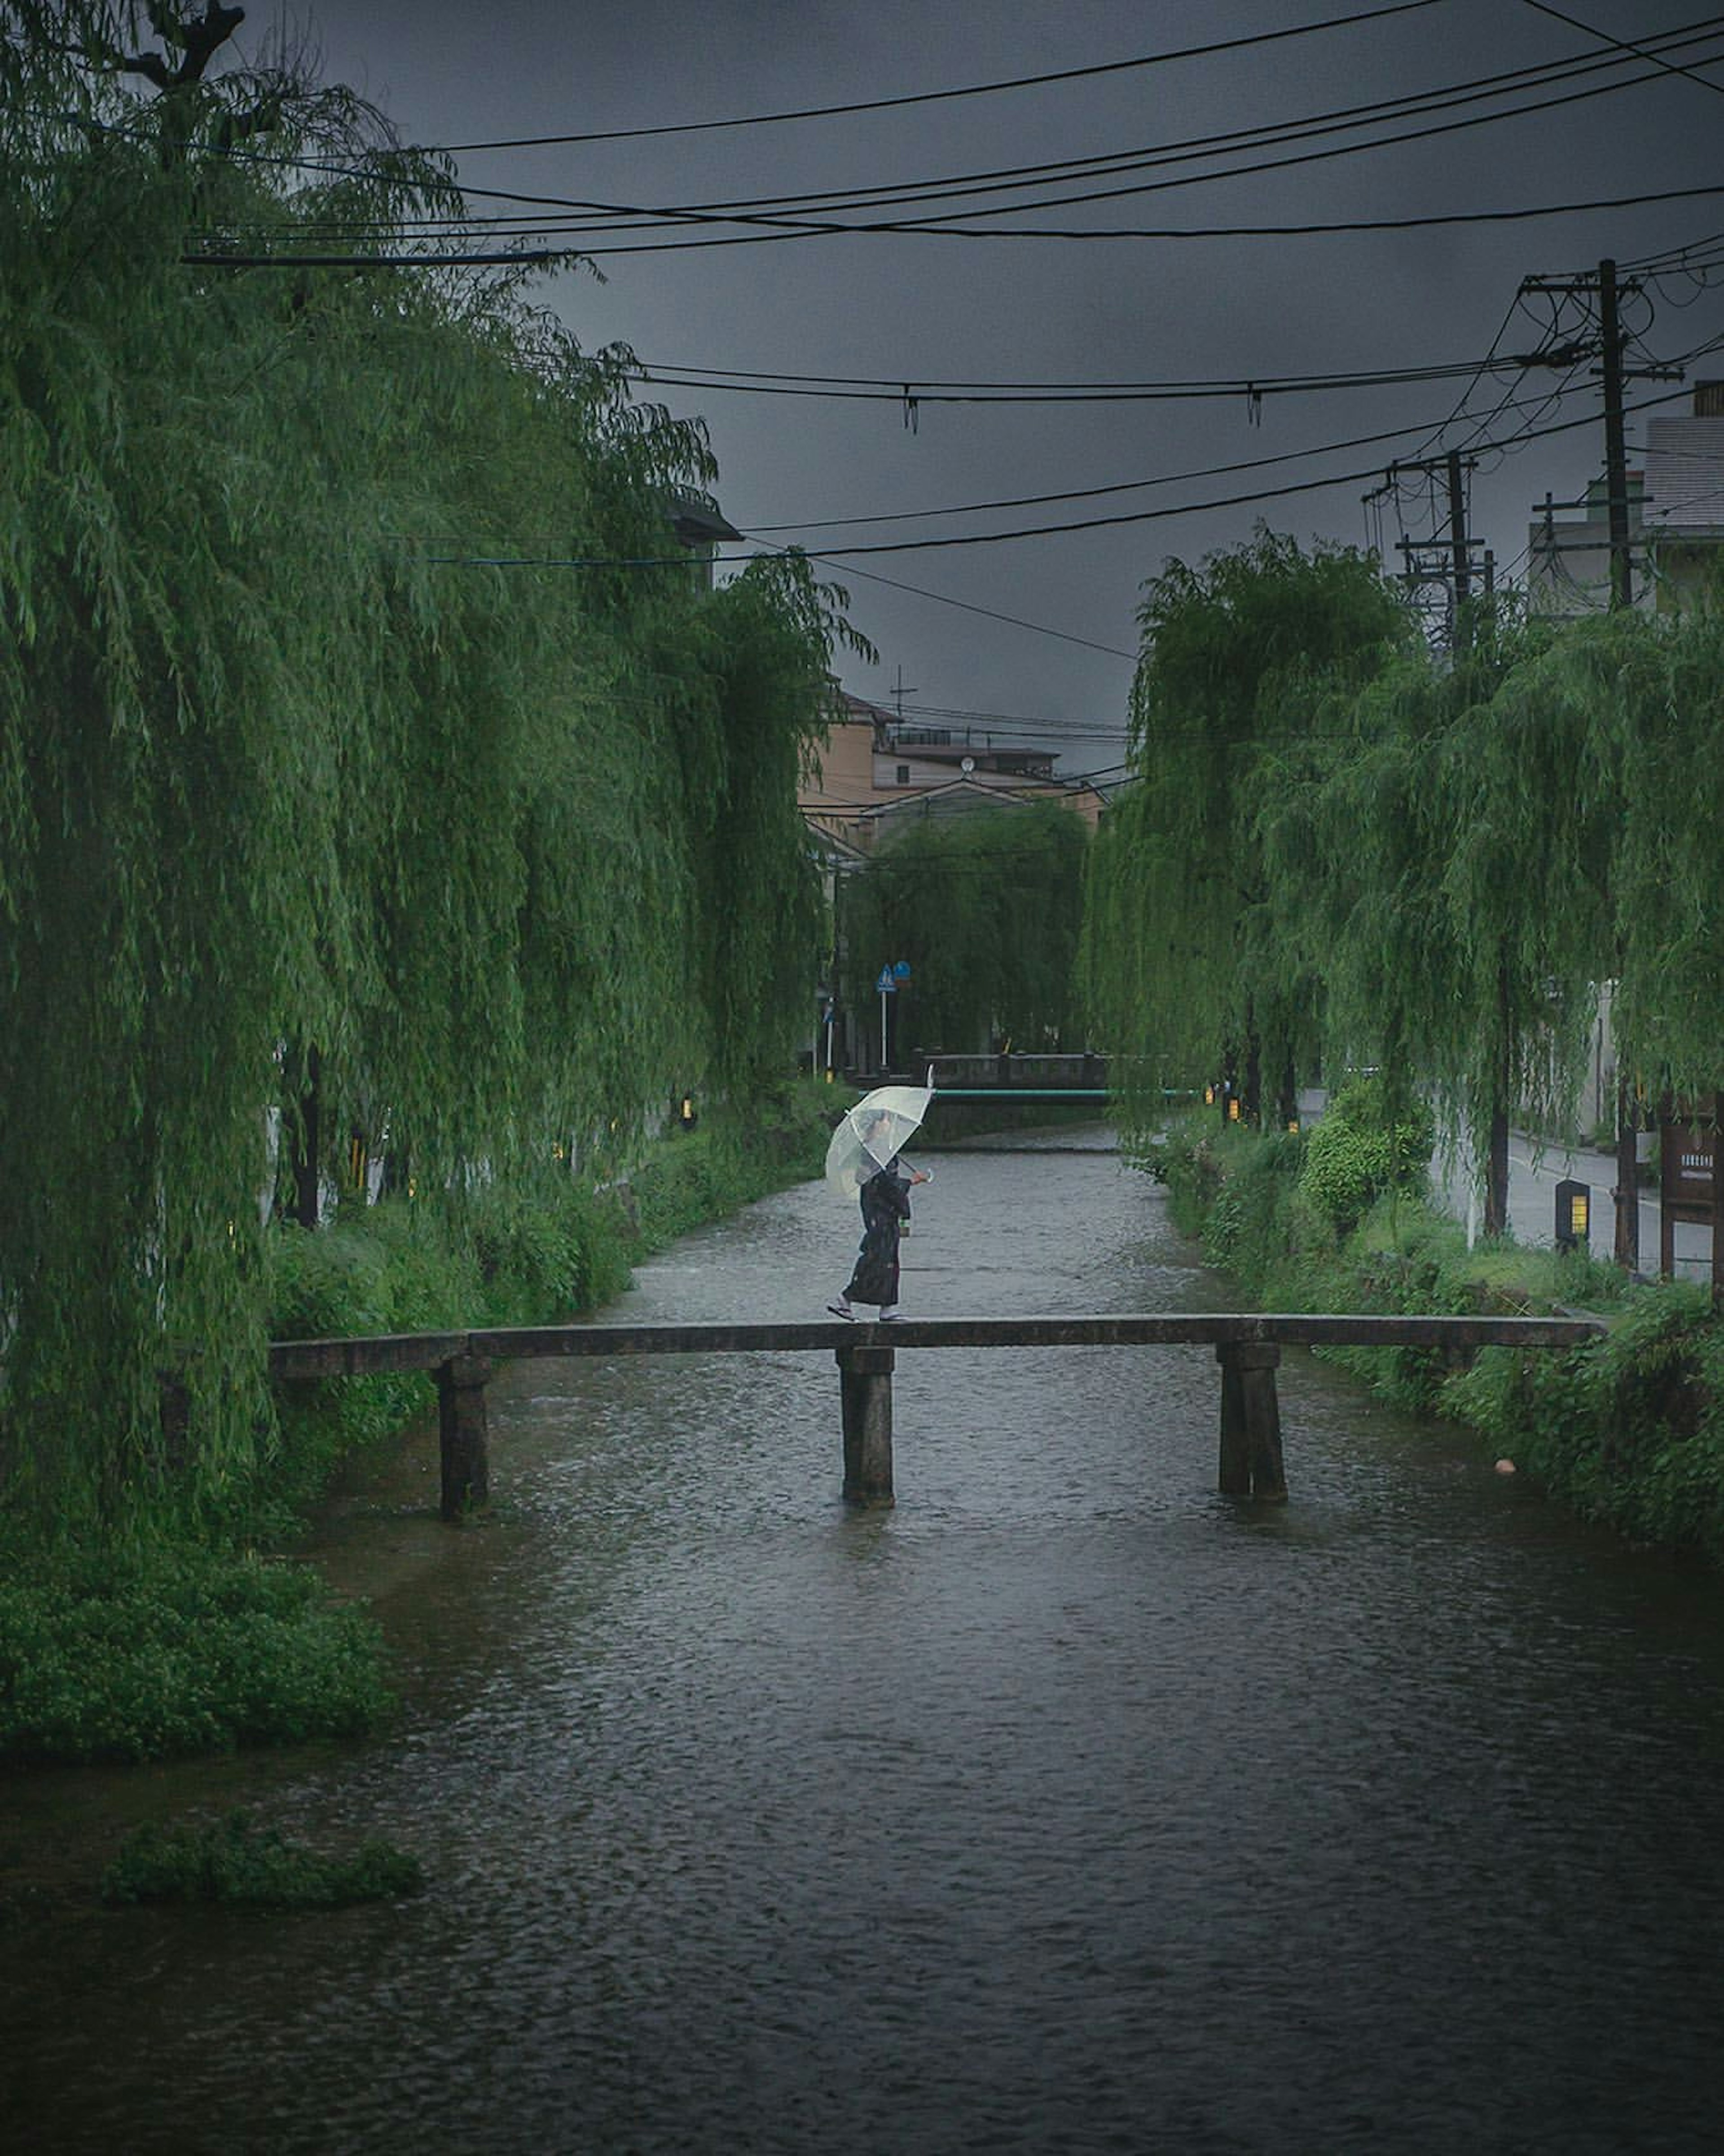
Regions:
<instances>
[{"instance_id":1,"label":"thin flat deck of the narrow footbridge, without its piers","mask_svg":"<svg viewBox=\"0 0 1724 2156\"><path fill-rule=\"evenodd\" d=\"M1142 1311L1073 1317L903 1317L651 1326L493 1326L472 1332L384 1332L356 1339L276 1341L276 1378L360 1378L440 1369L463 1356L489 1363L541 1356L752 1354L838 1348L1166 1348L1179 1343L1276 1348L1573 1348L1605 1332L1601 1317L1401 1317L1306 1311Z\"/></svg>"}]
</instances>

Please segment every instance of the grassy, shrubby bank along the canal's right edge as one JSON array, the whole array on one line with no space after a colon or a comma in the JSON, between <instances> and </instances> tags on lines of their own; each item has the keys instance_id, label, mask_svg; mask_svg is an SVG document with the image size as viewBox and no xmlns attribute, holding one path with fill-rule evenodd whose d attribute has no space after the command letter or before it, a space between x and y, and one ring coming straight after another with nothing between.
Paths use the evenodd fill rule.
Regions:
<instances>
[{"instance_id":1,"label":"grassy, shrubby bank along the canal's right edge","mask_svg":"<svg viewBox=\"0 0 1724 2156\"><path fill-rule=\"evenodd\" d=\"M1584 1518L1724 1563L1724 1326L1705 1289L1636 1285L1584 1255L1508 1240L1468 1248L1424 1201L1429 1128L1396 1123L1368 1093L1336 1106L1310 1134L1259 1136L1194 1115L1140 1160L1179 1227L1256 1309L1610 1317L1605 1337L1569 1354L1334 1360L1386 1399L1476 1432Z\"/></svg>"}]
</instances>

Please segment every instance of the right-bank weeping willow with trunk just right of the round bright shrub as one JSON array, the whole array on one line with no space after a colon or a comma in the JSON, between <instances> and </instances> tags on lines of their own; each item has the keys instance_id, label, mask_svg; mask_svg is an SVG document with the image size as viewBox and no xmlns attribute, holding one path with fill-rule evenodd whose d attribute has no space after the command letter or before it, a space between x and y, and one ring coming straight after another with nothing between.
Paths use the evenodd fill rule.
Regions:
<instances>
[{"instance_id":1,"label":"right-bank weeping willow with trunk just right of the round bright shrub","mask_svg":"<svg viewBox=\"0 0 1724 2156\"><path fill-rule=\"evenodd\" d=\"M1345 750L1259 819L1276 910L1325 998L1332 1072L1433 1095L1506 1220L1508 1119L1567 1112L1608 953L1621 793L1547 634L1409 653ZM1528 888L1537 877L1537 888Z\"/></svg>"}]
</instances>

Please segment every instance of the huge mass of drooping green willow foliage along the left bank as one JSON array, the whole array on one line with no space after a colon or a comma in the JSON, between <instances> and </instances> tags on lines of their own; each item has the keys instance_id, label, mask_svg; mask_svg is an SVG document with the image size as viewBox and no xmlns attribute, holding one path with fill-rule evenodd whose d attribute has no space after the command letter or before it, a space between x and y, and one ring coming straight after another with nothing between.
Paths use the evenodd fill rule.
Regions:
<instances>
[{"instance_id":1,"label":"huge mass of drooping green willow foliage along the left bank","mask_svg":"<svg viewBox=\"0 0 1724 2156\"><path fill-rule=\"evenodd\" d=\"M707 591L703 433L515 280L181 259L448 207L347 93L0 19L0 1485L112 1518L267 1442L312 1072L431 1197L789 1061L845 630L797 558Z\"/></svg>"}]
</instances>

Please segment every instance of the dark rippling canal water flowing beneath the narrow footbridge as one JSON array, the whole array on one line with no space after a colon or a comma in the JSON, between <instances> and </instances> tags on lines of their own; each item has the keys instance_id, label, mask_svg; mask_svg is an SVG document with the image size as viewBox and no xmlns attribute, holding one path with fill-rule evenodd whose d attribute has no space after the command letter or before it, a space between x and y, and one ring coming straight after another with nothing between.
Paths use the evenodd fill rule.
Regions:
<instances>
[{"instance_id":1,"label":"dark rippling canal water flowing beneath the narrow footbridge","mask_svg":"<svg viewBox=\"0 0 1724 2156\"><path fill-rule=\"evenodd\" d=\"M817 1317L821 1186L606 1315ZM912 1315L1213 1309L1110 1151L948 1153ZM416 1850L306 1917L13 1915L9 2145L1718 2145L1724 1598L1308 1358L1293 1501L1215 1494L1211 1350L905 1350L899 1505L830 1356L532 1365L493 1518L418 1438L330 1520L403 1727L30 1779L0 1835L246 1802Z\"/></svg>"}]
</instances>

